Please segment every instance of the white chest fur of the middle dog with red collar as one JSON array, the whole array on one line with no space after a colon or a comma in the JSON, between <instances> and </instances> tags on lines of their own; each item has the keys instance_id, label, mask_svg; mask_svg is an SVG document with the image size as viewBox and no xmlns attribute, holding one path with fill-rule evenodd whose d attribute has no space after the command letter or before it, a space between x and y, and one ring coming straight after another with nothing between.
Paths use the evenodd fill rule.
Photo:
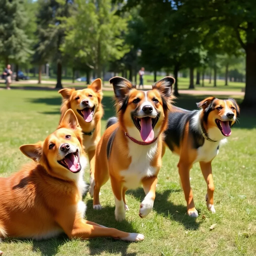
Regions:
<instances>
[{"instance_id":1,"label":"white chest fur of the middle dog with red collar","mask_svg":"<svg viewBox=\"0 0 256 256\"><path fill-rule=\"evenodd\" d=\"M156 168L150 163L156 154L157 142L145 146L129 140L128 147L131 164L128 169L122 170L120 175L124 177L125 187L135 189L141 185L142 178L155 175Z\"/></svg>"}]
</instances>

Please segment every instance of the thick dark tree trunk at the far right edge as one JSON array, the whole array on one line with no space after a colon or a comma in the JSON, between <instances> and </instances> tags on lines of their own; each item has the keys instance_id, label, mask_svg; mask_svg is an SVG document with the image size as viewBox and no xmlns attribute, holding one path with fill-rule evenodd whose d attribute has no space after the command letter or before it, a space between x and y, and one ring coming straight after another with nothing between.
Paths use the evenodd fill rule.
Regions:
<instances>
[{"instance_id":1,"label":"thick dark tree trunk at the far right edge","mask_svg":"<svg viewBox=\"0 0 256 256\"><path fill-rule=\"evenodd\" d=\"M241 104L245 108L256 108L256 39L246 45L246 84L244 100Z\"/></svg>"}]
</instances>

